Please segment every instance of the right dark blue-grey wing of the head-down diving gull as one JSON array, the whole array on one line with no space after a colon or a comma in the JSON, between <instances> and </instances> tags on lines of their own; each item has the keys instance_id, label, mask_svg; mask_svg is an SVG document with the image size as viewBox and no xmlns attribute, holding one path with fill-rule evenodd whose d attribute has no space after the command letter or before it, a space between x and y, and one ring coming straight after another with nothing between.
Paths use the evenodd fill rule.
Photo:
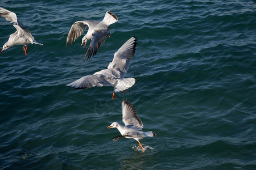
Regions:
<instances>
[{"instance_id":1,"label":"right dark blue-grey wing of the head-down diving gull","mask_svg":"<svg viewBox=\"0 0 256 170\"><path fill-rule=\"evenodd\" d=\"M90 59L90 57L95 56L97 50L108 36L110 36L109 29L99 29L93 32L92 40L90 41L89 48L84 56L84 61Z\"/></svg>"}]
</instances>

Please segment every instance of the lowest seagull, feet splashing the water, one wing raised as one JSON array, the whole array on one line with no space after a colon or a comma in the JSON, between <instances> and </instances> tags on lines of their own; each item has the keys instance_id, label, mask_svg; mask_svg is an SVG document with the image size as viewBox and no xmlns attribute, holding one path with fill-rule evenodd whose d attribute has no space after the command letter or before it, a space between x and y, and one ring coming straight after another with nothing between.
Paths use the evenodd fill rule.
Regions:
<instances>
[{"instance_id":1,"label":"lowest seagull, feet splashing the water, one wing raised","mask_svg":"<svg viewBox=\"0 0 256 170\"><path fill-rule=\"evenodd\" d=\"M118 122L113 122L107 128L117 128L121 135L113 138L113 141L116 142L120 138L133 138L139 142L139 139L143 139L144 137L155 137L156 134L152 131L142 131L143 124L141 119L137 116L135 108L129 101L122 101L122 115L123 115L123 123L125 126L118 124ZM145 149L142 147L141 142L139 142L139 146L141 146L143 152Z\"/></svg>"}]
</instances>

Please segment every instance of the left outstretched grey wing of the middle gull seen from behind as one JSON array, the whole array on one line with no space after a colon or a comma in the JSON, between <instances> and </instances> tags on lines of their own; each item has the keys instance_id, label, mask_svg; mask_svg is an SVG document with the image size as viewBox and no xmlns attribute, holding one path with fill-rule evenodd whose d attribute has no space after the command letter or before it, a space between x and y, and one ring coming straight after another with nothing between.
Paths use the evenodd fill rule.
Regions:
<instances>
[{"instance_id":1,"label":"left outstretched grey wing of the middle gull seen from behind","mask_svg":"<svg viewBox=\"0 0 256 170\"><path fill-rule=\"evenodd\" d=\"M86 75L82 78L76 80L75 82L67 84L67 86L80 88L90 88L90 87L101 87L101 86L113 86L115 84L115 79L106 78L104 75Z\"/></svg>"}]
</instances>

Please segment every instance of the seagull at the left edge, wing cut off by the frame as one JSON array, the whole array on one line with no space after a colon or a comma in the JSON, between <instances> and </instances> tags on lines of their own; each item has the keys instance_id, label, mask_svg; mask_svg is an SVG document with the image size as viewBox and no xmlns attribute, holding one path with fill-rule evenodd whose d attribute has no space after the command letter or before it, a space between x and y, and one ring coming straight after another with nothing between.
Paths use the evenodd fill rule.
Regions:
<instances>
[{"instance_id":1,"label":"seagull at the left edge, wing cut off by the frame","mask_svg":"<svg viewBox=\"0 0 256 170\"><path fill-rule=\"evenodd\" d=\"M13 26L17 29L17 31L12 33L9 37L9 40L3 45L1 53L4 50L13 47L14 45L24 45L23 50L25 55L27 56L28 44L43 45L34 39L34 37L31 35L31 32L28 29L24 28L24 25L17 19L17 16L14 12L11 12L9 10L6 10L5 8L0 7L0 16L5 18L7 21L13 23Z\"/></svg>"}]
</instances>

